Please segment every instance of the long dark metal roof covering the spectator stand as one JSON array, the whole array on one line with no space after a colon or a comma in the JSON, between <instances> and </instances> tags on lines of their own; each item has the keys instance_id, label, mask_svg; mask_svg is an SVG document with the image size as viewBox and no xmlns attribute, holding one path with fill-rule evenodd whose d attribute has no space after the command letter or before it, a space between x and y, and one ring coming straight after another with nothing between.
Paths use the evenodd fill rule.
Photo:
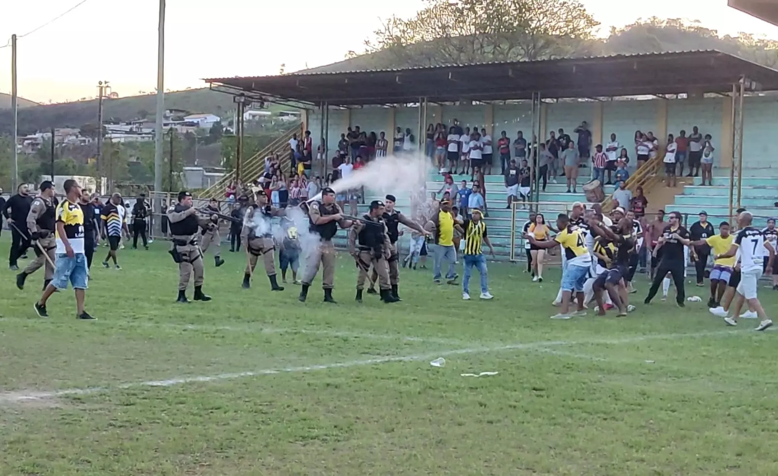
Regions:
<instances>
[{"instance_id":1,"label":"long dark metal roof covering the spectator stand","mask_svg":"<svg viewBox=\"0 0 778 476\"><path fill-rule=\"evenodd\" d=\"M741 76L778 90L778 71L721 51L485 62L282 76L205 79L212 88L318 105L405 104L420 98L523 100L643 94L726 93Z\"/></svg>"}]
</instances>

